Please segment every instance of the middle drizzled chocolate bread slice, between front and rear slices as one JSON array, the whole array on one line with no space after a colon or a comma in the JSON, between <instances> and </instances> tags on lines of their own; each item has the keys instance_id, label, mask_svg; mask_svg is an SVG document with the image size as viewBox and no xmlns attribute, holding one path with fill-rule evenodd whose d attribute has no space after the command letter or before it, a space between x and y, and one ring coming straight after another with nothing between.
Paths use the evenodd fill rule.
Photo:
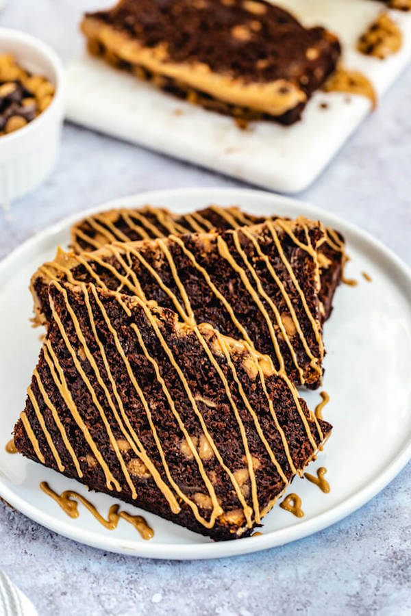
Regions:
<instances>
[{"instance_id":1,"label":"middle drizzled chocolate bread slice, between front and rear slices","mask_svg":"<svg viewBox=\"0 0 411 616\"><path fill-rule=\"evenodd\" d=\"M293 383L318 387L324 355L316 246L319 222L266 220L222 233L187 233L64 253L32 277L36 320L51 318L53 279L92 282L208 322L269 354Z\"/></svg>"}]
</instances>

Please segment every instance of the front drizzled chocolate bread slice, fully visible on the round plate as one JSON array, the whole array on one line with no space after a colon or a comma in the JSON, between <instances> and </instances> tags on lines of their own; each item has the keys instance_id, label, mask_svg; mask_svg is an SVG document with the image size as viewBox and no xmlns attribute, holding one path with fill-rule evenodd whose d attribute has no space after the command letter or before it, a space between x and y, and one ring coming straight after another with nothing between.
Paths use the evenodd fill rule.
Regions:
<instances>
[{"instance_id":1,"label":"front drizzled chocolate bread slice, fully visible on the round plate","mask_svg":"<svg viewBox=\"0 0 411 616\"><path fill-rule=\"evenodd\" d=\"M332 426L210 324L94 285L48 291L17 450L212 539L249 535Z\"/></svg>"}]
</instances>

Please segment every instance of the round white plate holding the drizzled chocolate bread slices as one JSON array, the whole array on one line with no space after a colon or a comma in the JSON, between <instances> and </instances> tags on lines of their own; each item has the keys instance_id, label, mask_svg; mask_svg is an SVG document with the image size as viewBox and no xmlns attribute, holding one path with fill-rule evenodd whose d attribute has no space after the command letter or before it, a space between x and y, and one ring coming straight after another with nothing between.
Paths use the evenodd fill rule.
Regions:
<instances>
[{"instance_id":1,"label":"round white plate holding the drizzled chocolate bread slices","mask_svg":"<svg viewBox=\"0 0 411 616\"><path fill-rule=\"evenodd\" d=\"M90 493L75 480L4 450L40 350L39 329L31 329L32 299L29 277L51 259L58 244L66 246L69 227L77 215L43 231L0 264L0 495L43 526L90 546L152 558L200 559L245 554L279 546L310 535L358 509L384 488L411 457L411 274L393 253L351 224L312 205L253 190L188 189L151 192L119 199L95 209L145 203L190 211L208 203L238 204L253 214L284 214L321 218L340 229L352 257L347 276L357 287L341 285L334 312L325 325L326 374L323 383L331 396L324 417L334 431L325 450L311 465L327 467L328 494L307 480L296 478L289 491L301 496L305 517L296 518L276 506L264 519L260 537L212 541L143 513L155 531L143 541L121 520L116 530L105 530L79 505L71 519L39 488L47 480L56 491L75 489L107 514L118 502ZM367 272L371 283L362 277ZM304 392L308 405L319 402L319 392ZM133 507L126 507L132 512ZM134 513L136 513L136 510ZM142 513L141 510L139 513Z\"/></svg>"}]
</instances>

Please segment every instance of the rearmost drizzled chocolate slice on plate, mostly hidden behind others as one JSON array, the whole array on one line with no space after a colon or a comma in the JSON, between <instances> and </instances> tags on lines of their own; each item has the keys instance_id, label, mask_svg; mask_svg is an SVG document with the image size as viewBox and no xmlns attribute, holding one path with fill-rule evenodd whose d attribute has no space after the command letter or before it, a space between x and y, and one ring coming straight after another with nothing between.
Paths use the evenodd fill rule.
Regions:
<instances>
[{"instance_id":1,"label":"rearmost drizzled chocolate slice on plate, mostly hidden behind others","mask_svg":"<svg viewBox=\"0 0 411 616\"><path fill-rule=\"evenodd\" d=\"M190 214L172 214L166 209L149 205L135 209L111 209L73 224L71 246L77 253L82 253L96 250L116 240L127 242L162 238L170 233L207 233L213 229L224 231L249 227L265 220L266 216L253 216L238 207L219 205L210 205ZM325 229L324 242L317 250L321 277L319 298L323 320L326 320L332 311L334 293L341 280L344 248L343 235L333 229Z\"/></svg>"}]
</instances>

